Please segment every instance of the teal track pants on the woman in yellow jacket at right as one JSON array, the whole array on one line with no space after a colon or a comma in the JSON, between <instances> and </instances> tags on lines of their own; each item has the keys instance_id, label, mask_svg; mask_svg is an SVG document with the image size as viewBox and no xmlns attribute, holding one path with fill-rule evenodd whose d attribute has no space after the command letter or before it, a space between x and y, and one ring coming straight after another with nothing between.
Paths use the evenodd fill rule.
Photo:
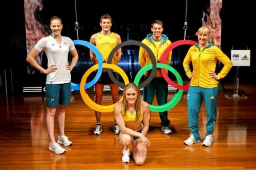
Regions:
<instances>
[{"instance_id":1,"label":"teal track pants on the woman in yellow jacket at right","mask_svg":"<svg viewBox=\"0 0 256 170\"><path fill-rule=\"evenodd\" d=\"M216 101L217 101L218 88L201 88L198 86L190 86L187 92L187 111L188 111L188 127L193 134L195 141L200 140L198 133L198 114L201 108L202 101L205 103L207 123L206 134L213 133L214 125L216 122Z\"/></svg>"}]
</instances>

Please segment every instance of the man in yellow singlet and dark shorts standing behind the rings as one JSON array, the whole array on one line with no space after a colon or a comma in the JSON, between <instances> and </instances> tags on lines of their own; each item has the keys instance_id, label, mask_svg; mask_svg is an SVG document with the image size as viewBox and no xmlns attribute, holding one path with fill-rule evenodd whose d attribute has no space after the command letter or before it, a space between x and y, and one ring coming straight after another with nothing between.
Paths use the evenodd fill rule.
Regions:
<instances>
[{"instance_id":1,"label":"man in yellow singlet and dark shorts standing behind the rings","mask_svg":"<svg viewBox=\"0 0 256 170\"><path fill-rule=\"evenodd\" d=\"M109 53L112 49L121 43L120 35L117 33L111 32L110 28L112 26L112 18L109 14L103 14L99 19L99 25L101 26L101 31L94 33L90 37L90 43L94 44L96 48L100 51L103 63L107 62L107 58ZM119 48L113 55L112 64L117 65L118 61L121 58L121 48ZM95 54L90 50L90 59L93 64L97 64L97 58ZM116 72L115 72L116 75ZM114 84L108 76L107 69L103 68L103 72L99 78L99 80L95 84L95 102L101 105L102 95L103 95L103 88L104 85L109 85L111 97L113 103L118 101L118 87ZM100 112L95 111L96 116L96 129L94 131L94 135L100 135L102 132L102 126L100 123ZM114 122L114 133L117 134L119 132L119 127L116 122Z\"/></svg>"}]
</instances>

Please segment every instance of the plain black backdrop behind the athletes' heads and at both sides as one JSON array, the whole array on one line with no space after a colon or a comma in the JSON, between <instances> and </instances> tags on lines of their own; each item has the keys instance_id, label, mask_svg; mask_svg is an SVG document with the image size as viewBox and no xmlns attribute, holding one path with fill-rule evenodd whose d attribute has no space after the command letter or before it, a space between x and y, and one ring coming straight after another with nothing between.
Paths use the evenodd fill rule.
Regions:
<instances>
[{"instance_id":1,"label":"plain black backdrop behind the athletes' heads and at both sides","mask_svg":"<svg viewBox=\"0 0 256 170\"><path fill-rule=\"evenodd\" d=\"M22 87L27 82L44 82L44 75L27 76L26 65L26 45L25 45L25 25L24 25L24 7L23 1L7 1L7 7L3 8L3 37L6 39L7 46L3 46L3 54L0 57L0 73L3 77L5 69L7 77L10 76L10 68L13 80L13 93L20 94ZM111 1L93 1L87 2L77 0L77 20L79 22L79 39L89 40L92 33L100 31L99 17L103 13L109 13L113 19L112 31L121 35L122 41L127 37L125 28L130 27L130 39L141 41L147 33L150 33L150 22L154 19L160 19L164 24L163 33L173 42L183 39L183 23L185 18L185 1L171 1L171 5L166 5L162 1L154 4L145 3L138 6L136 1L124 1L124 5L115 4ZM196 3L188 0L187 5L187 36L186 39L197 40L194 36L195 31L201 25L201 13L205 9L205 0L197 0ZM251 75L255 67L255 47L252 47L254 40L254 30L252 27L252 7L251 2L243 0L242 2L227 1L222 2L221 18L221 49L230 56L230 49L250 49L251 66L240 67L240 83L253 83L256 81ZM93 12L91 12L93 11ZM74 31L75 12L74 1L62 0L43 0L43 9L40 11L42 20L48 24L50 16L57 15L63 20L62 35L77 39ZM143 28L143 29L139 29ZM147 30L147 31L145 31ZM183 72L178 68L178 72ZM230 73L222 81L233 81L235 70L232 68ZM252 73L252 74L251 74ZM10 84L7 78L7 84ZM1 87L1 92L3 88Z\"/></svg>"}]
</instances>

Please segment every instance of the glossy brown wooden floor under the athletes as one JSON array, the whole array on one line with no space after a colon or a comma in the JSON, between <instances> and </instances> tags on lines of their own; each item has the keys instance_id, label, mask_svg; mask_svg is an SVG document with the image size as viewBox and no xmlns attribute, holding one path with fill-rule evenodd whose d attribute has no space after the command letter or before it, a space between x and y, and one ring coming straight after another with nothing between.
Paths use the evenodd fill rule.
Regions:
<instances>
[{"instance_id":1,"label":"glossy brown wooden floor under the athletes","mask_svg":"<svg viewBox=\"0 0 256 170\"><path fill-rule=\"evenodd\" d=\"M151 113L148 139L152 146L142 167L131 160L121 162L122 147L112 132L113 114L102 113L103 133L94 136L94 111L86 106L79 94L66 108L65 135L72 141L64 147L67 153L48 151L45 128L44 95L0 96L0 169L1 170L256 170L256 86L239 85L247 99L226 99L232 85L219 92L214 142L202 147L201 142L185 146L189 136L186 93L168 111L171 135L160 130L157 113ZM171 95L169 95L169 98ZM103 105L111 104L104 95ZM154 100L155 101L155 100ZM57 120L55 118L55 120ZM206 114L202 105L199 114L200 135L205 134ZM55 138L57 122L55 122ZM202 139L201 139L202 140Z\"/></svg>"}]
</instances>

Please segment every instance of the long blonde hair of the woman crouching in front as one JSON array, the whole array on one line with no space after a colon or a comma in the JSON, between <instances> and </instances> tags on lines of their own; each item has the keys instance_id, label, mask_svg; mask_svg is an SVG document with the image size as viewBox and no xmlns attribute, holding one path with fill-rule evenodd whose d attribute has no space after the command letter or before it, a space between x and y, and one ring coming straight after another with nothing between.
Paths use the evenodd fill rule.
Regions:
<instances>
[{"instance_id":1,"label":"long blonde hair of the woman crouching in front","mask_svg":"<svg viewBox=\"0 0 256 170\"><path fill-rule=\"evenodd\" d=\"M125 92L127 89L134 89L137 93L137 99L136 99L136 103L135 103L135 110L136 110L136 121L139 119L140 116L140 104L141 104L141 100L140 100L140 96L139 96L139 90L138 87L134 84L134 83L128 83L125 85L124 89L123 89L123 93L122 93L122 111L123 111L123 115L126 114L127 112L127 100L126 100L126 96L125 96Z\"/></svg>"}]
</instances>

